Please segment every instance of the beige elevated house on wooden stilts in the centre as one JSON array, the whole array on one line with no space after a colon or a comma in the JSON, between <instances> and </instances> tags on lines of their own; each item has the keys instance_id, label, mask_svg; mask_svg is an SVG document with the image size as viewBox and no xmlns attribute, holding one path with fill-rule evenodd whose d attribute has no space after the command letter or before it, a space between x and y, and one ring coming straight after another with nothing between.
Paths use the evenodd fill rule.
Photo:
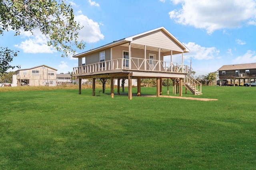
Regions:
<instances>
[{"instance_id":1,"label":"beige elevated house on wooden stilts in the centre","mask_svg":"<svg viewBox=\"0 0 256 170\"><path fill-rule=\"evenodd\" d=\"M106 80L110 79L112 98L114 79L118 79L118 94L120 80L128 79L129 99L132 99L132 79L137 79L137 96L141 95L141 78L156 78L156 96L162 93L162 78L170 78L174 85L179 85L180 96L183 85L194 94L201 94L198 82L188 75L188 66L183 64L183 53L187 52L189 49L166 28L159 27L74 55L78 58L78 67L73 68L73 76L79 78L79 94L81 80L92 78L93 96L96 78L102 81L103 90ZM181 63L172 62L173 55L177 54ZM170 60L164 61L164 56L170 56Z\"/></svg>"}]
</instances>

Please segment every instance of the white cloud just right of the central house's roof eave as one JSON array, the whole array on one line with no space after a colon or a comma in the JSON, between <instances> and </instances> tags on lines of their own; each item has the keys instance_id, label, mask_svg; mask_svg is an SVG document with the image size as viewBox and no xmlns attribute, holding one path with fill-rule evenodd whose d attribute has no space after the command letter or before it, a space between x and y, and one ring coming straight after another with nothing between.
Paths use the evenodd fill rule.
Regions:
<instances>
[{"instance_id":1,"label":"white cloud just right of the central house's roof eave","mask_svg":"<svg viewBox=\"0 0 256 170\"><path fill-rule=\"evenodd\" d=\"M194 58L196 60L210 60L218 56L219 50L216 47L201 47L198 44L189 42L188 44L184 43L188 49L189 53L184 53L184 60Z\"/></svg>"}]
</instances>

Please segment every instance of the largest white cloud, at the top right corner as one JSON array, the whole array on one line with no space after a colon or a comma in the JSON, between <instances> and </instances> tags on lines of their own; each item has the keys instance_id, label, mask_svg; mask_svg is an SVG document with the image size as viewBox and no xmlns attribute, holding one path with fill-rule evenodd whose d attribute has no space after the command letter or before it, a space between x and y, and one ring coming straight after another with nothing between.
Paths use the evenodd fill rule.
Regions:
<instances>
[{"instance_id":1,"label":"largest white cloud, at the top right corner","mask_svg":"<svg viewBox=\"0 0 256 170\"><path fill-rule=\"evenodd\" d=\"M256 25L255 0L172 0L182 4L180 10L169 12L176 23L206 29L237 28L242 24Z\"/></svg>"}]
</instances>

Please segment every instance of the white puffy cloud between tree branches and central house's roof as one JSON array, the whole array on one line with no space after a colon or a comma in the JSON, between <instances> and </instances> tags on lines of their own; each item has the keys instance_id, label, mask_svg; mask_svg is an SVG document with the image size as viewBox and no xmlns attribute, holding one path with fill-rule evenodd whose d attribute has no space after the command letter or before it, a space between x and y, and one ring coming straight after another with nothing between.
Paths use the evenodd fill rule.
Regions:
<instances>
[{"instance_id":1,"label":"white puffy cloud between tree branches and central house's roof","mask_svg":"<svg viewBox=\"0 0 256 170\"><path fill-rule=\"evenodd\" d=\"M84 26L79 31L79 40L83 39L85 42L94 43L100 39L104 39L104 35L100 32L99 23L94 22L84 15L75 16L75 20Z\"/></svg>"}]
</instances>

